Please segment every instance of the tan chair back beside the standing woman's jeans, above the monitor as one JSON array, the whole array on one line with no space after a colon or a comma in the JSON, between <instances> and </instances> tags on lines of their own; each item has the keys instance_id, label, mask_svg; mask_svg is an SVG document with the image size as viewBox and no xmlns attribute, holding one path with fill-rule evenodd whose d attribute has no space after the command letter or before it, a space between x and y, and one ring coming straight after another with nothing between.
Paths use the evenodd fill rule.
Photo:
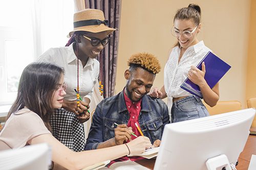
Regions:
<instances>
[{"instance_id":1,"label":"tan chair back beside the standing woman's jeans, above the monitor","mask_svg":"<svg viewBox=\"0 0 256 170\"><path fill-rule=\"evenodd\" d=\"M210 115L221 114L242 109L241 102L239 101L219 101L217 102L217 105L214 107L208 106L205 102L203 102L203 104L205 105Z\"/></svg>"}]
</instances>

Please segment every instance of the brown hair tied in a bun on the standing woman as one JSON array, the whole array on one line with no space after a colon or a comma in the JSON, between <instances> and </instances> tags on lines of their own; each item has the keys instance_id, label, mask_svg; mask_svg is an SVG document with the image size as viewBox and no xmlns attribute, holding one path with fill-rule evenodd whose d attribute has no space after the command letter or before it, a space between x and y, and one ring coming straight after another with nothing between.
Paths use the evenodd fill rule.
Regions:
<instances>
[{"instance_id":1,"label":"brown hair tied in a bun on the standing woman","mask_svg":"<svg viewBox=\"0 0 256 170\"><path fill-rule=\"evenodd\" d=\"M176 12L174 16L174 21L175 19L185 19L185 20L192 19L195 25L198 26L199 23L201 22L201 8L199 7L199 5L189 4L188 7L181 8ZM177 42L174 46L179 46L179 45L180 45L179 42Z\"/></svg>"}]
</instances>

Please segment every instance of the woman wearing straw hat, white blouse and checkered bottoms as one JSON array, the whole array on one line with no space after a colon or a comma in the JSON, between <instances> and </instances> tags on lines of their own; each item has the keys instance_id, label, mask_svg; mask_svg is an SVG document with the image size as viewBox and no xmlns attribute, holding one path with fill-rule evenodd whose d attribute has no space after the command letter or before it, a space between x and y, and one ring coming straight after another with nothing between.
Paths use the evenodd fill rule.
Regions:
<instances>
[{"instance_id":1,"label":"woman wearing straw hat, white blouse and checkered bottoms","mask_svg":"<svg viewBox=\"0 0 256 170\"><path fill-rule=\"evenodd\" d=\"M74 14L74 30L69 33L67 45L50 48L38 58L66 70L67 95L50 123L53 136L73 151L82 151L85 146L82 123L90 118L90 98L99 75L99 62L95 58L109 42L109 34L116 30L107 24L101 10L79 11Z\"/></svg>"}]
</instances>

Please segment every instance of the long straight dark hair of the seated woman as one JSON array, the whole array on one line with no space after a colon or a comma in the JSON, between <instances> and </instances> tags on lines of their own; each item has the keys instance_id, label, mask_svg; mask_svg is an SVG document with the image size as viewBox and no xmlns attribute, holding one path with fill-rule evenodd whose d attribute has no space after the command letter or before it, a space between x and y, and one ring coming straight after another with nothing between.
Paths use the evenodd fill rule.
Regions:
<instances>
[{"instance_id":1,"label":"long straight dark hair of the seated woman","mask_svg":"<svg viewBox=\"0 0 256 170\"><path fill-rule=\"evenodd\" d=\"M7 119L14 112L25 106L38 114L46 127L51 130L49 118L53 114L53 94L58 88L58 83L64 70L50 63L31 63L20 77L17 98L12 105Z\"/></svg>"}]
</instances>

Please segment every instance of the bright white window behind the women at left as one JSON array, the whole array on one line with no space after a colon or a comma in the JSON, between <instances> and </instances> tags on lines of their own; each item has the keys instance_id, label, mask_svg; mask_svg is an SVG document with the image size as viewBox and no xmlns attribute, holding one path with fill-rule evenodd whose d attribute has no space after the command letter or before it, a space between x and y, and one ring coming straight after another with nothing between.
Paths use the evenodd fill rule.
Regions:
<instances>
[{"instance_id":1,"label":"bright white window behind the women at left","mask_svg":"<svg viewBox=\"0 0 256 170\"><path fill-rule=\"evenodd\" d=\"M71 0L0 2L0 105L15 100L24 67L48 48L67 43L73 14Z\"/></svg>"}]
</instances>

